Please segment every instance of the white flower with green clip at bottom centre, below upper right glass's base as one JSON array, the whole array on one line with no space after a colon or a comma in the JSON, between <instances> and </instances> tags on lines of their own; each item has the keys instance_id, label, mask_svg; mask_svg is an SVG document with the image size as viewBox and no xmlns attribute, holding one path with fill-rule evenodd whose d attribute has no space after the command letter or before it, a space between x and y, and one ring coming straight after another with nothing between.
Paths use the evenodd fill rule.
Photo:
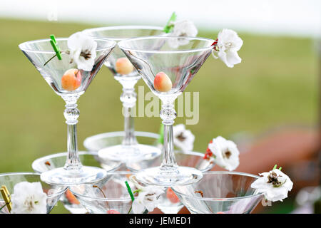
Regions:
<instances>
[{"instance_id":1,"label":"white flower with green clip at bottom centre, below upper right glass's base","mask_svg":"<svg viewBox=\"0 0 321 228\"><path fill-rule=\"evenodd\" d=\"M145 211L145 209L147 209L148 212L152 212L159 203L158 199L160 195L164 193L164 188L151 185L139 185L133 176L130 177L130 180L138 188L138 197L136 197L133 201L134 214L141 214Z\"/></svg>"}]
</instances>

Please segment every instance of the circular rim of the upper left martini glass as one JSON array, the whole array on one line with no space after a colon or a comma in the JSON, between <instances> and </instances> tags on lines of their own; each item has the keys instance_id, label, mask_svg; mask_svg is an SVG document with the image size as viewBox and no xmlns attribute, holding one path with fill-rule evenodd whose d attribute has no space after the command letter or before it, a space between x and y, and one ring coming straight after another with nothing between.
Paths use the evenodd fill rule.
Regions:
<instances>
[{"instance_id":1,"label":"circular rim of the upper left martini glass","mask_svg":"<svg viewBox=\"0 0 321 228\"><path fill-rule=\"evenodd\" d=\"M103 51L103 50L106 50L108 48L114 48L117 43L111 39L108 39L108 38L101 38L101 37L96 37L96 36L91 36L91 38L93 38L93 40L95 41L108 41L108 42L111 42L111 45L109 45L108 47L106 48L99 48L99 49L96 49L96 51ZM67 37L61 37L61 38L56 38L56 41L67 41L68 38ZM51 50L43 50L43 51L40 51L40 50L33 50L33 49L30 49L30 48L26 48L26 44L28 43L41 43L41 42L46 42L46 41L51 41L50 38L42 38L42 39L38 39L38 40L34 40L34 41L25 41L23 43L20 43L18 46L19 48L21 49L21 51L27 51L27 52L31 52L31 53L52 53L52 54L56 54L56 52L54 51L53 48L51 48Z\"/></svg>"}]
</instances>

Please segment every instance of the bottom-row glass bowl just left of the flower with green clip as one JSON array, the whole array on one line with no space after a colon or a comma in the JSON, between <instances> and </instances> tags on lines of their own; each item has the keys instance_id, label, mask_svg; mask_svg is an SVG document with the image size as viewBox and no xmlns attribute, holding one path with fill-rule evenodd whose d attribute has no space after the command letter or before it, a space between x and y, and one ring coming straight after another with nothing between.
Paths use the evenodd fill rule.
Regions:
<instances>
[{"instance_id":1,"label":"bottom-row glass bowl just left of the flower with green clip","mask_svg":"<svg viewBox=\"0 0 321 228\"><path fill-rule=\"evenodd\" d=\"M128 214L131 210L131 197L125 181L129 181L133 172L109 172L107 177L94 184L74 185L70 187L73 195L91 214Z\"/></svg>"}]
</instances>

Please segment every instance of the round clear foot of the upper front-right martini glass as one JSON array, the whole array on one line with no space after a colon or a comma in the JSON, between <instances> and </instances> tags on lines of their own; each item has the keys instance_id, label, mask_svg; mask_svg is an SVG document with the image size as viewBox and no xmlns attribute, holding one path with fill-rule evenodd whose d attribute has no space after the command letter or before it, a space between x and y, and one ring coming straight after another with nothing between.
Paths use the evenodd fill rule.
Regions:
<instances>
[{"instance_id":1,"label":"round clear foot of the upper front-right martini glass","mask_svg":"<svg viewBox=\"0 0 321 228\"><path fill-rule=\"evenodd\" d=\"M192 167L178 167L177 170L161 170L160 167L139 171L136 180L146 185L172 187L175 185L190 185L198 182L203 173Z\"/></svg>"}]
</instances>

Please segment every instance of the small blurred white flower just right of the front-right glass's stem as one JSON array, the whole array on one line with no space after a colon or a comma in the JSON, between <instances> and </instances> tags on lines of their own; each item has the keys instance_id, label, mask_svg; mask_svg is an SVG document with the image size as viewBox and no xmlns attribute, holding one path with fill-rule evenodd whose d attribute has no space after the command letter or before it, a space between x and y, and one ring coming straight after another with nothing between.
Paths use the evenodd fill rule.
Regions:
<instances>
[{"instance_id":1,"label":"small blurred white flower just right of the front-right glass's stem","mask_svg":"<svg viewBox=\"0 0 321 228\"><path fill-rule=\"evenodd\" d=\"M178 124L173 127L174 145L183 152L193 150L195 136L190 130L185 129L185 125Z\"/></svg>"}]
</instances>

